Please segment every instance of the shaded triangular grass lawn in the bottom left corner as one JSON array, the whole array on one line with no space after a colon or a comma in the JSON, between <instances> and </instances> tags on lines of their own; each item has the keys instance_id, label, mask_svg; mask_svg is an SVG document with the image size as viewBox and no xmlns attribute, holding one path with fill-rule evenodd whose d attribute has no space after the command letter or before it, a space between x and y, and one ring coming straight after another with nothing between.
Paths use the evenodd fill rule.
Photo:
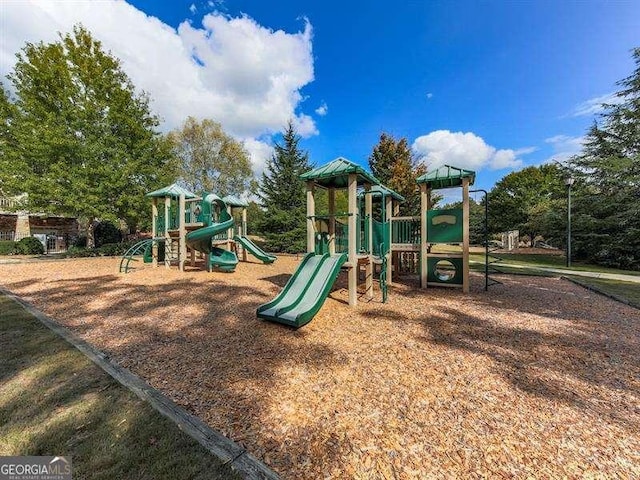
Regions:
<instances>
[{"instance_id":1,"label":"shaded triangular grass lawn in the bottom left corner","mask_svg":"<svg viewBox=\"0 0 640 480\"><path fill-rule=\"evenodd\" d=\"M0 455L70 455L83 479L237 478L4 295Z\"/></svg>"}]
</instances>

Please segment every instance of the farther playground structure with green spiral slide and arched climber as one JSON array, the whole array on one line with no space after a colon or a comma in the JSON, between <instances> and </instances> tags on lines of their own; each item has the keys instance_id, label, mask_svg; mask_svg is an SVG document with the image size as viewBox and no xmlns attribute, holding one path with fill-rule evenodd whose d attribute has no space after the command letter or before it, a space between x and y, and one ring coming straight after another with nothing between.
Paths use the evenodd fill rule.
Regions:
<instances>
[{"instance_id":1,"label":"farther playground structure with green spiral slide and arched climber","mask_svg":"<svg viewBox=\"0 0 640 480\"><path fill-rule=\"evenodd\" d=\"M208 271L232 272L238 257L247 261L247 253L266 264L276 260L247 237L247 204L237 197L220 198L213 193L199 197L176 184L147 196L152 199L153 238L138 242L125 253L121 272L126 273L140 254L154 267L177 264L181 271L187 261L196 265L197 254L205 258ZM234 220L237 210L239 225Z\"/></svg>"}]
</instances>

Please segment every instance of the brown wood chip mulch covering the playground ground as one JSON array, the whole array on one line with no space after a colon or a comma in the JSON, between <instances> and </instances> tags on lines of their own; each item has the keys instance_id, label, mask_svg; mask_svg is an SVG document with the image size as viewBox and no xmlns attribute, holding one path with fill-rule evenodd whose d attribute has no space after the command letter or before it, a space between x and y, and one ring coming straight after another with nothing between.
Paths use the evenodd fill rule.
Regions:
<instances>
[{"instance_id":1,"label":"brown wood chip mulch covering the playground ground","mask_svg":"<svg viewBox=\"0 0 640 480\"><path fill-rule=\"evenodd\" d=\"M0 265L0 284L284 478L640 478L640 312L560 279L415 288L306 327L255 317L298 260L235 273L116 259Z\"/></svg>"}]
</instances>

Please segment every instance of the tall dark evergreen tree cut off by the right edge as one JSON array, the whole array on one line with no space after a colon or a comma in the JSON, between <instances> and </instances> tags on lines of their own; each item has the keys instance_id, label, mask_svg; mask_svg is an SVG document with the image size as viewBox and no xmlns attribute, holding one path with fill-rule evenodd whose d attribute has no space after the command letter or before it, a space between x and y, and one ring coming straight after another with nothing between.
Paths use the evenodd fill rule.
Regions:
<instances>
[{"instance_id":1,"label":"tall dark evergreen tree cut off by the right edge","mask_svg":"<svg viewBox=\"0 0 640 480\"><path fill-rule=\"evenodd\" d=\"M640 269L640 48L633 73L617 83L581 154L571 160L575 252L592 261Z\"/></svg>"}]
</instances>

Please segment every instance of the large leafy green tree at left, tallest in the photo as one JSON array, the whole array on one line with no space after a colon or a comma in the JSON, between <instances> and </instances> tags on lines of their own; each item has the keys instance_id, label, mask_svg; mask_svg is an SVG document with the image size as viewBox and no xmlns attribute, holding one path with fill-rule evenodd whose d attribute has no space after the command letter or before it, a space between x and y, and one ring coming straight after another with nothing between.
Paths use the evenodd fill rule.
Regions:
<instances>
[{"instance_id":1,"label":"large leafy green tree at left, tallest in the photo","mask_svg":"<svg viewBox=\"0 0 640 480\"><path fill-rule=\"evenodd\" d=\"M27 43L7 78L16 98L0 109L5 193L83 218L88 246L95 219L134 226L148 216L144 194L173 178L169 145L118 59L75 26L56 42Z\"/></svg>"}]
</instances>

